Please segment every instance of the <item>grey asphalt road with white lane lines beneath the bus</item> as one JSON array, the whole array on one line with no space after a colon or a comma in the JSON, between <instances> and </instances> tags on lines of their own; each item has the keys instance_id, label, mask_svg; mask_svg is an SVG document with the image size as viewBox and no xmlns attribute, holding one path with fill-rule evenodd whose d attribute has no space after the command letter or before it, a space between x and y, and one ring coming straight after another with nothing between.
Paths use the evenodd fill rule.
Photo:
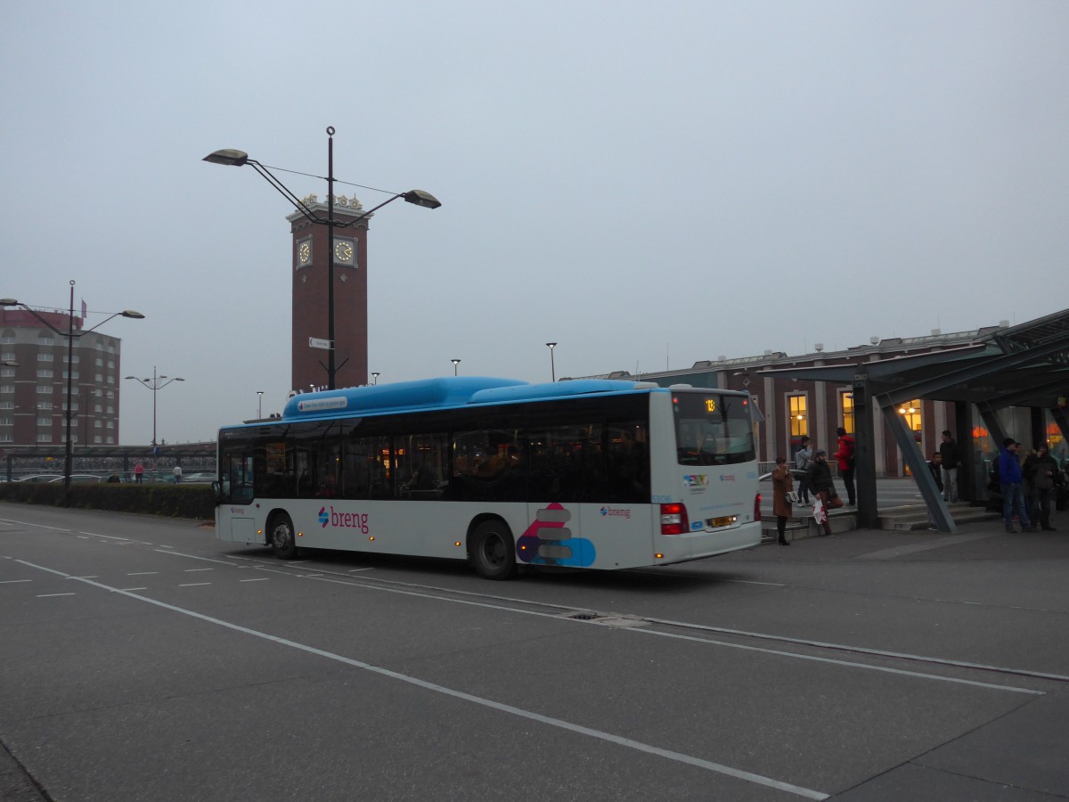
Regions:
<instances>
[{"instance_id":1,"label":"grey asphalt road with white lane lines beneath the bus","mask_svg":"<svg viewBox=\"0 0 1069 802\"><path fill-rule=\"evenodd\" d=\"M0 799L1069 799L1054 523L492 583L0 504Z\"/></svg>"}]
</instances>

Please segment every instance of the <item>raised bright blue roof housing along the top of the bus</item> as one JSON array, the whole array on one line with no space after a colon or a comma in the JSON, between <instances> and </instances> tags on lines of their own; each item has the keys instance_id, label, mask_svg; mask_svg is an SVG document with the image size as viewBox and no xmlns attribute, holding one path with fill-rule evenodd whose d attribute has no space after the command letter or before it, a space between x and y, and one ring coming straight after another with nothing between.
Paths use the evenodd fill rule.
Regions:
<instances>
[{"instance_id":1,"label":"raised bright blue roof housing along the top of the bus","mask_svg":"<svg viewBox=\"0 0 1069 802\"><path fill-rule=\"evenodd\" d=\"M301 392L289 400L282 411L282 418L293 420L361 413L382 414L391 410L410 411L465 404L509 403L597 392L625 392L634 387L634 382L614 379L528 384L516 379L440 376L416 382Z\"/></svg>"}]
</instances>

